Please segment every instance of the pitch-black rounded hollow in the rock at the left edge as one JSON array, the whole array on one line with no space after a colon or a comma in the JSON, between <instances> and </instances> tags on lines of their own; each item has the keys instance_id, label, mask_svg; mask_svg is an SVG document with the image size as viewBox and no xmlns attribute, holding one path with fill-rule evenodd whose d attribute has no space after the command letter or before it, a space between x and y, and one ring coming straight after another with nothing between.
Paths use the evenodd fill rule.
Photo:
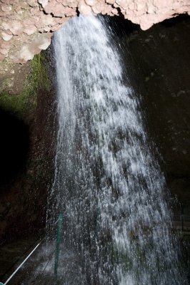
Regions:
<instances>
[{"instance_id":1,"label":"pitch-black rounded hollow in the rock at the left edge","mask_svg":"<svg viewBox=\"0 0 190 285\"><path fill-rule=\"evenodd\" d=\"M29 151L29 127L0 109L0 185L25 168Z\"/></svg>"}]
</instances>

